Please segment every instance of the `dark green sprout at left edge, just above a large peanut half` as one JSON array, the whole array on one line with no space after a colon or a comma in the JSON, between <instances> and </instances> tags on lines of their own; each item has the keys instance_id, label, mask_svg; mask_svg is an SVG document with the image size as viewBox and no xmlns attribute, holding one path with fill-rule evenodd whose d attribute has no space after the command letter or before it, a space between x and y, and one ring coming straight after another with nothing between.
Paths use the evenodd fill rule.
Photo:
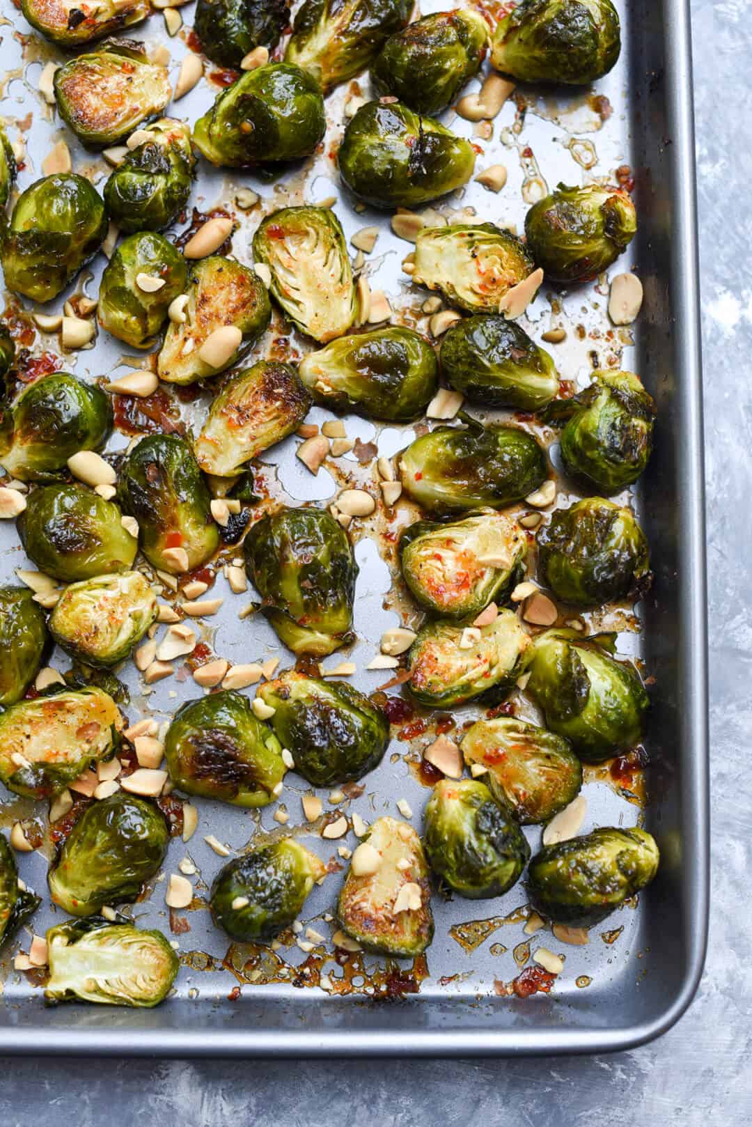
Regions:
<instances>
[{"instance_id":1,"label":"dark green sprout at left edge, just above a large peanut half","mask_svg":"<svg viewBox=\"0 0 752 1127\"><path fill-rule=\"evenodd\" d=\"M78 451L101 450L112 428L112 402L101 388L53 372L23 388L10 408L0 465L21 481L52 481Z\"/></svg>"}]
</instances>

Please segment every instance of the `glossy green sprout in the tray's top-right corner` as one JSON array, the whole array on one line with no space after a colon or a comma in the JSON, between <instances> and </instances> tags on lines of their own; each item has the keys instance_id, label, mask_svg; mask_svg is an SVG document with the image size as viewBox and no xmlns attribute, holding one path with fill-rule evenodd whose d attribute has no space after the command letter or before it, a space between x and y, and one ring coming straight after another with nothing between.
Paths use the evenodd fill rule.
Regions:
<instances>
[{"instance_id":1,"label":"glossy green sprout in the tray's top-right corner","mask_svg":"<svg viewBox=\"0 0 752 1127\"><path fill-rule=\"evenodd\" d=\"M611 0L522 0L496 25L490 61L519 82L584 86L608 74L620 51Z\"/></svg>"}]
</instances>

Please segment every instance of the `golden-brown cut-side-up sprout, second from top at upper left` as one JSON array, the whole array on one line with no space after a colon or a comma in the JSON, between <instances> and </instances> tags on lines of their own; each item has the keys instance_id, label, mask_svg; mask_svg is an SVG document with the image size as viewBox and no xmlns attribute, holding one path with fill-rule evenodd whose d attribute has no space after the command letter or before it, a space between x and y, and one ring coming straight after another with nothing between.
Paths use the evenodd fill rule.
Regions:
<instances>
[{"instance_id":1,"label":"golden-brown cut-side-up sprout, second from top at upper left","mask_svg":"<svg viewBox=\"0 0 752 1127\"><path fill-rule=\"evenodd\" d=\"M149 61L143 43L107 39L55 71L55 100L82 144L104 149L161 113L172 97L167 68Z\"/></svg>"}]
</instances>

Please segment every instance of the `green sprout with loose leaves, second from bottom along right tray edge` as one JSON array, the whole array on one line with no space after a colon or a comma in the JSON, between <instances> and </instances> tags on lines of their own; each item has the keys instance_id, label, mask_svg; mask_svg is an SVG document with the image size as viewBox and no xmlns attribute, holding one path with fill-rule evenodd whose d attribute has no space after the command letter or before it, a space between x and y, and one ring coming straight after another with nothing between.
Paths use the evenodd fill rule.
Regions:
<instances>
[{"instance_id":1,"label":"green sprout with loose leaves, second from bottom along right tray edge","mask_svg":"<svg viewBox=\"0 0 752 1127\"><path fill-rule=\"evenodd\" d=\"M533 639L530 693L546 725L585 763L601 763L643 738L649 699L637 669L611 656L613 637L547 630Z\"/></svg>"}]
</instances>

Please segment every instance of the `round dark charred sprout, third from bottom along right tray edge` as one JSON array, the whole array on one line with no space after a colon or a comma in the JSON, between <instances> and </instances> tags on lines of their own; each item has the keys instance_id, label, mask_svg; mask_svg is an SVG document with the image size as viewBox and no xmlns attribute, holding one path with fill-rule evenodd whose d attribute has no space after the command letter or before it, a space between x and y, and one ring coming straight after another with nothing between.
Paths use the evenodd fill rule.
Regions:
<instances>
[{"instance_id":1,"label":"round dark charred sprout, third from bottom along right tray edge","mask_svg":"<svg viewBox=\"0 0 752 1127\"><path fill-rule=\"evenodd\" d=\"M631 509L603 497L557 509L538 533L538 557L554 594L583 606L637 594L649 575L647 540Z\"/></svg>"}]
</instances>

